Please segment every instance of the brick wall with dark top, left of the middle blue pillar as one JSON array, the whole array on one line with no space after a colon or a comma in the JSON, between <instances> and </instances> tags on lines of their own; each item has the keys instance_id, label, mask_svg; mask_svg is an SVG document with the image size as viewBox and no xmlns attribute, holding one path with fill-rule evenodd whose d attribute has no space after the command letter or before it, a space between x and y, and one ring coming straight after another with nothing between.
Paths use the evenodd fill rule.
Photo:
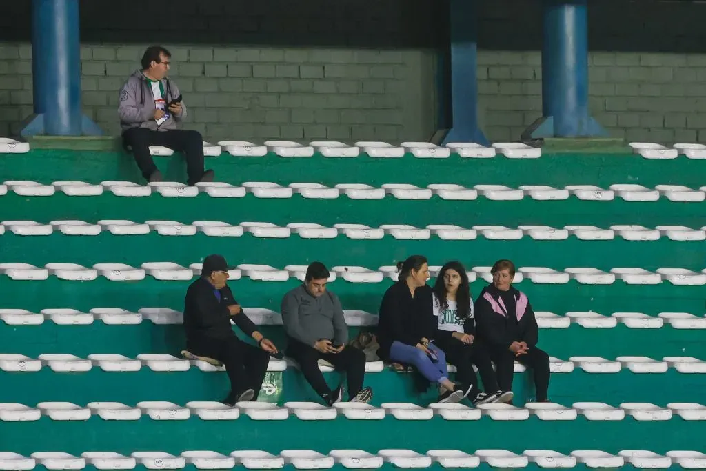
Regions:
<instances>
[{"instance_id":1,"label":"brick wall with dark top, left of the middle blue pillar","mask_svg":"<svg viewBox=\"0 0 706 471\"><path fill-rule=\"evenodd\" d=\"M0 135L32 112L30 3L0 2L14 16L0 18ZM80 7L83 108L109 133L119 133L118 90L153 43L172 52L188 126L210 140L403 141L435 131L435 18L447 15L431 0Z\"/></svg>"}]
</instances>

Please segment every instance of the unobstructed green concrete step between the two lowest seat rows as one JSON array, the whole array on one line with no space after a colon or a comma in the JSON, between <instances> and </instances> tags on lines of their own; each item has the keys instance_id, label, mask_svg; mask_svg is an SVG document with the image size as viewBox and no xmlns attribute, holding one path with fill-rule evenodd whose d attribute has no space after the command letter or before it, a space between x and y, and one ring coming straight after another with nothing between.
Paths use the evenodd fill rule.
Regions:
<instances>
[{"instance_id":1,"label":"unobstructed green concrete step between the two lowest seat rows","mask_svg":"<svg viewBox=\"0 0 706 471\"><path fill-rule=\"evenodd\" d=\"M210 450L229 454L234 449L279 453L283 449L311 449L328 453L337 448L359 448L376 453L385 448L407 448L421 453L431 449L502 448L515 453L527 449L549 449L560 453L574 450L621 450L649 448L655 453L702 449L703 422L672 419L667 422L573 421L522 422L431 421L407 422L392 417L383 420L204 421L198 418L153 421L0 422L3 448L23 455L35 451L165 451L178 455L184 450ZM441 432L441 433L440 433ZM42 439L37 437L42 436ZM659 440L655 437L659 436ZM178 437L178 439L177 439ZM501 439L502 437L502 439ZM649 445L649 446L647 446ZM529 468L528 468L529 469Z\"/></svg>"}]
</instances>

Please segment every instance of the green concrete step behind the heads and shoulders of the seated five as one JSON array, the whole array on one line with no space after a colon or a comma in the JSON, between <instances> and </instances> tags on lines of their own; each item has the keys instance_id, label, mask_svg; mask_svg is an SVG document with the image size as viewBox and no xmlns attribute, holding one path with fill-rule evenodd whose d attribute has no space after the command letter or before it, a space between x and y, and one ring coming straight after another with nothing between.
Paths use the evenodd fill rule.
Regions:
<instances>
[{"instance_id":1,"label":"green concrete step behind the heads and shoulders of the seated five","mask_svg":"<svg viewBox=\"0 0 706 471\"><path fill-rule=\"evenodd\" d=\"M253 261L254 262L254 261ZM305 262L306 263L306 262ZM429 281L433 284L434 279ZM337 279L328 289L341 299L345 309L377 313L385 290L392 283L350 283ZM90 282L59 280L16 281L0 277L1 309L78 309L121 308L136 312L145 307L164 307L181 311L189 281L160 281L147 277L136 282L112 282L99 277ZM244 307L280 310L285 293L300 284L296 278L286 282L232 280L236 299ZM472 283L474 297L487 285L484 280ZM524 291L536 311L563 314L570 311L594 311L604 315L614 312L642 312L656 316L661 312L689 312L701 315L706 299L705 286L659 285L580 285L571 280L566 285L535 285L525 280L515 285Z\"/></svg>"}]
</instances>

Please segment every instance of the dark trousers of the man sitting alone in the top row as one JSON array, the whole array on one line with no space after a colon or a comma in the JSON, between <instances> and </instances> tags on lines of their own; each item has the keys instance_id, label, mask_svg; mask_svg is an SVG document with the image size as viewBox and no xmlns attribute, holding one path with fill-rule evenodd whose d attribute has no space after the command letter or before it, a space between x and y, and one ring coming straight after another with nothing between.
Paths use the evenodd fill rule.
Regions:
<instances>
[{"instance_id":1,"label":"dark trousers of the man sitting alone in the top row","mask_svg":"<svg viewBox=\"0 0 706 471\"><path fill-rule=\"evenodd\" d=\"M145 179L157 170L150 155L150 145L162 145L186 155L186 174L189 185L194 185L203 177L203 138L198 131L152 131L147 128L131 128L123 133L125 145L132 148L135 162Z\"/></svg>"}]
</instances>

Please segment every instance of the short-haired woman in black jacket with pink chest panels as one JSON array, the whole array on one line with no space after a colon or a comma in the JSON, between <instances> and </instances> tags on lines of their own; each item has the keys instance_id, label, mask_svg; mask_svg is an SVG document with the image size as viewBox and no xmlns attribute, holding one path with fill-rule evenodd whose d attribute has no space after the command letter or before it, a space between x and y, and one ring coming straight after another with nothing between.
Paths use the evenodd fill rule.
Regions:
<instances>
[{"instance_id":1,"label":"short-haired woman in black jacket with pink chest panels","mask_svg":"<svg viewBox=\"0 0 706 471\"><path fill-rule=\"evenodd\" d=\"M475 311L478 333L496 364L498 386L513 386L514 360L532 369L537 402L548 403L549 355L537 347L539 327L525 293L513 288L515 265L500 260L491 269L493 283L481 291Z\"/></svg>"}]
</instances>

